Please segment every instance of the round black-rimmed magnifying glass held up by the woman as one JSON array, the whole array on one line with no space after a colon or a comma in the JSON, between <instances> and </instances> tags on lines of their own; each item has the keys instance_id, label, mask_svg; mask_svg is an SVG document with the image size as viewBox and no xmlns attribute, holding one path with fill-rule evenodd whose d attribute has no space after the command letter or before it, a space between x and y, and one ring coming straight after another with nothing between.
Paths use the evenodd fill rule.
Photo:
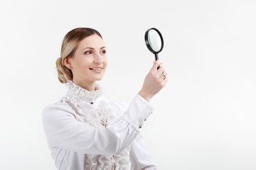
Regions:
<instances>
[{"instance_id":1,"label":"round black-rimmed magnifying glass held up by the woman","mask_svg":"<svg viewBox=\"0 0 256 170\"><path fill-rule=\"evenodd\" d=\"M159 30L156 28L150 28L145 33L146 47L155 55L155 59L159 60L158 53L163 50L164 39ZM159 69L160 66L157 67Z\"/></svg>"}]
</instances>

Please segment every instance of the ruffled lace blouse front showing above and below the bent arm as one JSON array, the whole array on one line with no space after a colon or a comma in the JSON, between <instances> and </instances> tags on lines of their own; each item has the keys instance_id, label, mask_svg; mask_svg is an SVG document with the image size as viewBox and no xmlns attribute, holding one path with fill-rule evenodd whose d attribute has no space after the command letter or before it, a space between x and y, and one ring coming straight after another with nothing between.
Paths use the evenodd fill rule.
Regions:
<instances>
[{"instance_id":1,"label":"ruffled lace blouse front showing above and below the bent arm","mask_svg":"<svg viewBox=\"0 0 256 170\"><path fill-rule=\"evenodd\" d=\"M106 100L100 101L98 108L93 107L90 103L80 103L77 99L69 96L61 98L60 102L71 106L83 122L94 127L107 127L108 123L118 118L114 108ZM130 147L117 155L86 154L85 169L129 169L129 152Z\"/></svg>"}]
</instances>

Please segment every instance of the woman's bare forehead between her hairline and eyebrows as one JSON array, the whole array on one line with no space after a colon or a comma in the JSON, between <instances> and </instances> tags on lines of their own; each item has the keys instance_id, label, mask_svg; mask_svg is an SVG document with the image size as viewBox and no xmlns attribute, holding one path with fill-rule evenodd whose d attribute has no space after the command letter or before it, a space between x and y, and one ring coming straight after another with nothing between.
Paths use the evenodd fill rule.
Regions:
<instances>
[{"instance_id":1,"label":"woman's bare forehead between her hairline and eyebrows","mask_svg":"<svg viewBox=\"0 0 256 170\"><path fill-rule=\"evenodd\" d=\"M105 46L105 43L102 40L102 38L97 34L93 34L81 40L81 42L78 45L78 48L82 48L82 49L85 47L101 48L104 46Z\"/></svg>"}]
</instances>

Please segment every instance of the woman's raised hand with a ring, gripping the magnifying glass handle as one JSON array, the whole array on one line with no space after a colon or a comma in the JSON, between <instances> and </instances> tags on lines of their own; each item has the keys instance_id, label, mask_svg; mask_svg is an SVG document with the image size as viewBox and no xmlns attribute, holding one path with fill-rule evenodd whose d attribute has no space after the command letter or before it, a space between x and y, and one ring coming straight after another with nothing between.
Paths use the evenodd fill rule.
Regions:
<instances>
[{"instance_id":1,"label":"woman's raised hand with a ring, gripping the magnifying glass handle","mask_svg":"<svg viewBox=\"0 0 256 170\"><path fill-rule=\"evenodd\" d=\"M161 60L154 61L153 67L144 79L142 90L139 91L139 95L145 98L146 101L150 101L150 99L157 94L168 81L168 77L166 77L167 72L165 71L164 66L157 69L159 64L162 64Z\"/></svg>"}]
</instances>

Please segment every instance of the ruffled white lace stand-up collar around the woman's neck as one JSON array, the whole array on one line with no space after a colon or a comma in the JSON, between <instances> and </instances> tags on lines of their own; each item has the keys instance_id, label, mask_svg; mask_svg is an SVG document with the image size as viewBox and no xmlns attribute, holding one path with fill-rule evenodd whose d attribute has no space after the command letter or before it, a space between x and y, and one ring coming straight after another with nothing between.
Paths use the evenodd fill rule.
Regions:
<instances>
[{"instance_id":1,"label":"ruffled white lace stand-up collar around the woman's neck","mask_svg":"<svg viewBox=\"0 0 256 170\"><path fill-rule=\"evenodd\" d=\"M100 87L100 84L96 84L95 91L87 91L81 86L73 83L71 80L67 81L66 86L68 86L68 89L71 93L89 101L95 101L96 98L102 95L102 88Z\"/></svg>"}]
</instances>

